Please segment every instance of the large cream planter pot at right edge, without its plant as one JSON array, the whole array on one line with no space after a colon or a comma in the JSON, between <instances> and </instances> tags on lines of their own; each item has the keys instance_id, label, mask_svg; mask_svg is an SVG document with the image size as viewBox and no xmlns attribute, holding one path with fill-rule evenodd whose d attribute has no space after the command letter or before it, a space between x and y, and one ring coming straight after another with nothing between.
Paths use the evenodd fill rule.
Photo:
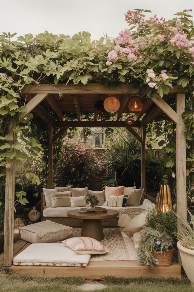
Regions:
<instances>
[{"instance_id":1,"label":"large cream planter pot at right edge, without its plant","mask_svg":"<svg viewBox=\"0 0 194 292\"><path fill-rule=\"evenodd\" d=\"M177 242L177 247L180 252L181 261L191 285L194 286L194 251L181 245Z\"/></svg>"}]
</instances>

